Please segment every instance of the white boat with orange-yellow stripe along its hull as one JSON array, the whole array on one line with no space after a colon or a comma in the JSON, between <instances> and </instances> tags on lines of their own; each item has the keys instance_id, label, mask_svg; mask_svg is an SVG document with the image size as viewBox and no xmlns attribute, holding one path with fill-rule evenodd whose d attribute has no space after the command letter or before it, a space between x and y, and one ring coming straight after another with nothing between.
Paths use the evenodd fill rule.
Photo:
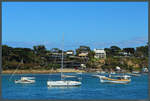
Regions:
<instances>
[{"instance_id":1,"label":"white boat with orange-yellow stripe along its hull","mask_svg":"<svg viewBox=\"0 0 150 101\"><path fill-rule=\"evenodd\" d=\"M119 83L119 84L127 84L131 82L130 76L123 75L123 76L113 76L114 78L106 77L106 76L99 76L100 82L102 83Z\"/></svg>"}]
</instances>

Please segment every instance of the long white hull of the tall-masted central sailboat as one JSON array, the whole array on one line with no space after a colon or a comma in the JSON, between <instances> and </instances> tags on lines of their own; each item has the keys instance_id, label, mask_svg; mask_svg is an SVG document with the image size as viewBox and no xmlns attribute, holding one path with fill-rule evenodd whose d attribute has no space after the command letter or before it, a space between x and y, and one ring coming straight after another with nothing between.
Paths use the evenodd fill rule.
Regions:
<instances>
[{"instance_id":1,"label":"long white hull of the tall-masted central sailboat","mask_svg":"<svg viewBox=\"0 0 150 101\"><path fill-rule=\"evenodd\" d=\"M81 82L78 82L78 81L47 81L47 85L50 87L80 86Z\"/></svg>"}]
</instances>

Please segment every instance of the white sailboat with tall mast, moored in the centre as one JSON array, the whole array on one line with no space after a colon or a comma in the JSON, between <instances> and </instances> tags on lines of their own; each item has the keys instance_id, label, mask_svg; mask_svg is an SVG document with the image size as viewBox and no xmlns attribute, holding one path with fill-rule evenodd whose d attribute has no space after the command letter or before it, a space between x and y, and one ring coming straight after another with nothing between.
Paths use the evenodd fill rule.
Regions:
<instances>
[{"instance_id":1,"label":"white sailboat with tall mast, moored in the centre","mask_svg":"<svg viewBox=\"0 0 150 101\"><path fill-rule=\"evenodd\" d=\"M64 40L64 38L63 38ZM47 81L47 85L49 87L70 87L70 86L80 86L82 83L79 81L71 81L71 80L64 80L64 75L63 75L63 49L62 49L62 59L61 59L61 80L60 81Z\"/></svg>"}]
</instances>

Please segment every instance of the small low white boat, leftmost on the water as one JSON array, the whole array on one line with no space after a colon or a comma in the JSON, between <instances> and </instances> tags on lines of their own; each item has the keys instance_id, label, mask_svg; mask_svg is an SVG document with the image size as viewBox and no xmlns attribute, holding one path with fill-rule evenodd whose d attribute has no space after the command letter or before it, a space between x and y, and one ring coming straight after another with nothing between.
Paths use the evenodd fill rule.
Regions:
<instances>
[{"instance_id":1,"label":"small low white boat, leftmost on the water","mask_svg":"<svg viewBox=\"0 0 150 101\"><path fill-rule=\"evenodd\" d=\"M35 83L34 77L21 77L20 80L15 80L15 83Z\"/></svg>"}]
</instances>

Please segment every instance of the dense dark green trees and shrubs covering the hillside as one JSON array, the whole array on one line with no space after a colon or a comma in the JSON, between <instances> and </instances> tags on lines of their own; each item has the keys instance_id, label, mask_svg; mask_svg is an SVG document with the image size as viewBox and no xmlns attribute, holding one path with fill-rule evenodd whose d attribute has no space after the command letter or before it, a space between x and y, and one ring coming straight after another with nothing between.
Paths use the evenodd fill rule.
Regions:
<instances>
[{"instance_id":1,"label":"dense dark green trees and shrubs covering the hillside","mask_svg":"<svg viewBox=\"0 0 150 101\"><path fill-rule=\"evenodd\" d=\"M103 69L111 70L116 66L120 66L125 70L140 70L142 67L148 67L148 46L135 48L119 48L111 46L104 49L107 54L106 59L94 58L94 51L88 46L80 46L76 49L76 54L71 58L66 55L65 61L79 61L84 63L88 69ZM69 50L73 51L73 50ZM87 58L78 58L82 51L87 51ZM57 58L54 58L53 53L59 53ZM61 61L62 50L53 48L47 50L44 45L33 46L30 48L13 48L7 45L2 45L2 68L3 70L10 69L57 69L60 68L58 61ZM126 54L123 54L126 53ZM83 61L84 60L84 61Z\"/></svg>"}]
</instances>

